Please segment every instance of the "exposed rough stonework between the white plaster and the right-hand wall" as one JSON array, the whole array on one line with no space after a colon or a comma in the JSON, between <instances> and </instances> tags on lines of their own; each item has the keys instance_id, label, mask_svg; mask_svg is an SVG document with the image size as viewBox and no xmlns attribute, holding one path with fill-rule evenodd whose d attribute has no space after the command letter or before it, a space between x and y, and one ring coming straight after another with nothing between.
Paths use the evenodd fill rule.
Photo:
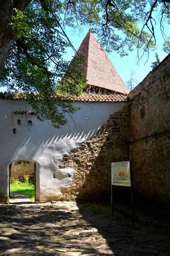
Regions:
<instances>
[{"instance_id":1,"label":"exposed rough stonework between the white plaster and the right-hand wall","mask_svg":"<svg viewBox=\"0 0 170 256\"><path fill-rule=\"evenodd\" d=\"M111 162L127 161L129 106L113 113L107 123L81 148L63 158L59 168L75 169L69 189L62 189L62 200L107 200L111 196Z\"/></svg>"}]
</instances>

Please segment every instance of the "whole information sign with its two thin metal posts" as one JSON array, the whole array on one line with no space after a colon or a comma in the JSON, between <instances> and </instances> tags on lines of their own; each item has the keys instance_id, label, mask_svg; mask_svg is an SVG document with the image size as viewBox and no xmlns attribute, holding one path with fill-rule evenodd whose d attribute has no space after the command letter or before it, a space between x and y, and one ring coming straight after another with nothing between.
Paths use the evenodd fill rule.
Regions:
<instances>
[{"instance_id":1,"label":"whole information sign with its two thin metal posts","mask_svg":"<svg viewBox=\"0 0 170 256\"><path fill-rule=\"evenodd\" d=\"M113 186L127 186L131 189L132 221L135 225L133 180L131 161L111 163L111 214L113 215Z\"/></svg>"}]
</instances>

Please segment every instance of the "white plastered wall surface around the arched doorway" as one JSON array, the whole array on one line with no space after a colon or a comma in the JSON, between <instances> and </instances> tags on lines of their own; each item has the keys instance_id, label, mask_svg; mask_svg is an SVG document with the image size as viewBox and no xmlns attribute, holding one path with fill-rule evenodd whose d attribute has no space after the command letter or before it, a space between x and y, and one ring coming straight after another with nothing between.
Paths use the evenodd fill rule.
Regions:
<instances>
[{"instance_id":1,"label":"white plastered wall surface around the arched doorway","mask_svg":"<svg viewBox=\"0 0 170 256\"><path fill-rule=\"evenodd\" d=\"M26 107L25 101L0 99L0 201L8 202L8 165L17 160L37 163L37 200L59 200L60 189L70 186L74 175L74 169L58 168L62 157L92 137L110 114L122 109L126 103L74 102L73 105L81 108L72 115L76 125L66 115L68 125L61 129L54 128L49 121L38 120L28 129L27 126L14 125L12 112L33 111L31 106ZM16 134L13 134L13 128L17 129Z\"/></svg>"}]
</instances>

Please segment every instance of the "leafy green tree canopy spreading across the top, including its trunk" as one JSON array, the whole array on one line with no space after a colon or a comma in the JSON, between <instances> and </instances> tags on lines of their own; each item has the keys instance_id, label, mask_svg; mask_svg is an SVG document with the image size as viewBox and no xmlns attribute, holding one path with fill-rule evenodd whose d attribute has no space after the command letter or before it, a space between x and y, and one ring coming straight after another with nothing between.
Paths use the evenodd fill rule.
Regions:
<instances>
[{"instance_id":1,"label":"leafy green tree canopy spreading across the top, including its trunk","mask_svg":"<svg viewBox=\"0 0 170 256\"><path fill-rule=\"evenodd\" d=\"M124 56L136 47L140 58L140 50L144 54L156 46L156 22L170 52L164 35L170 0L1 0L0 86L29 93L37 118L59 128L67 122L65 113L76 111L63 95L78 95L85 87L83 56L71 65L63 58L68 47L74 49L65 28L91 25L108 51Z\"/></svg>"}]
</instances>

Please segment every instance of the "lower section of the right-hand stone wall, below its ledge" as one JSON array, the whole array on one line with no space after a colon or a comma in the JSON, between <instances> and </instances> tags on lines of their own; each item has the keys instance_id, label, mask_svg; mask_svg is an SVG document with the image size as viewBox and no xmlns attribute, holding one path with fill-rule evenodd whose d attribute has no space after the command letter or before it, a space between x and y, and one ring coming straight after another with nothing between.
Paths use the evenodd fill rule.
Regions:
<instances>
[{"instance_id":1,"label":"lower section of the right-hand stone wall, below its ledge","mask_svg":"<svg viewBox=\"0 0 170 256\"><path fill-rule=\"evenodd\" d=\"M170 202L170 134L166 132L130 145L133 187L139 194Z\"/></svg>"}]
</instances>

